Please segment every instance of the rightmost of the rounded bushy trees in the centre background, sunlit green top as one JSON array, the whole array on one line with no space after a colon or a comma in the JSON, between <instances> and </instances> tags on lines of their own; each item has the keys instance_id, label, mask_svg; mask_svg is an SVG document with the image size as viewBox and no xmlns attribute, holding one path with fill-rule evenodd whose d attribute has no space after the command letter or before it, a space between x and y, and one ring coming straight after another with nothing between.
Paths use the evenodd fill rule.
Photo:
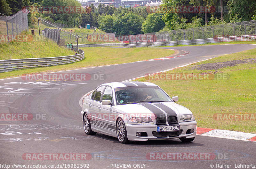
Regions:
<instances>
[{"instance_id":1,"label":"rightmost of the rounded bushy trees in the centre background, sunlit green top","mask_svg":"<svg viewBox=\"0 0 256 169\"><path fill-rule=\"evenodd\" d=\"M151 13L148 15L146 20L142 24L142 32L143 33L152 33L152 32L158 32L161 29L164 28L165 23L162 20L162 17L164 16L163 13Z\"/></svg>"}]
</instances>

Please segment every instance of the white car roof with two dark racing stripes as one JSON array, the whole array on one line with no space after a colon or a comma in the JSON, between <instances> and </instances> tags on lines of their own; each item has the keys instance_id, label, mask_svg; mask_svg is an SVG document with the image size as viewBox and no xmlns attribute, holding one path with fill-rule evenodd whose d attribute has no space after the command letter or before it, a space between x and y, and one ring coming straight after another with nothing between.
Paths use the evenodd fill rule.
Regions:
<instances>
[{"instance_id":1,"label":"white car roof with two dark racing stripes","mask_svg":"<svg viewBox=\"0 0 256 169\"><path fill-rule=\"evenodd\" d=\"M117 88L117 87L130 87L130 86L157 86L153 83L150 82L111 82L111 83L104 83L102 85L108 85L111 86L112 88ZM102 86L100 85L100 86Z\"/></svg>"}]
</instances>

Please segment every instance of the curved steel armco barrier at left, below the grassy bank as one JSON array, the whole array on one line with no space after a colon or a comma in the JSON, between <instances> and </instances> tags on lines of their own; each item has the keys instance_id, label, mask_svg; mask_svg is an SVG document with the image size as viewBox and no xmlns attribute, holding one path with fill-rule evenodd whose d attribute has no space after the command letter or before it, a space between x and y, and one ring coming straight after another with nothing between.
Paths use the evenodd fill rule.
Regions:
<instances>
[{"instance_id":1,"label":"curved steel armco barrier at left, below the grassy bank","mask_svg":"<svg viewBox=\"0 0 256 169\"><path fill-rule=\"evenodd\" d=\"M78 55L59 56L59 57L43 57L33 59L11 59L11 60L0 60L0 72L7 72L22 68L31 68L38 66L53 66L66 64L71 62L77 62L84 59L84 51L79 50Z\"/></svg>"}]
</instances>

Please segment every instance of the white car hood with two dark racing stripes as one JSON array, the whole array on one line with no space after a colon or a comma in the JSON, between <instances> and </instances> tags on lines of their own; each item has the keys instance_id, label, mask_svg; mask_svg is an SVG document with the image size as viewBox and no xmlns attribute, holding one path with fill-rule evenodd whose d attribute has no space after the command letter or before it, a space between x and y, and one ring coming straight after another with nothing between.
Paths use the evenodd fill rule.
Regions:
<instances>
[{"instance_id":1,"label":"white car hood with two dark racing stripes","mask_svg":"<svg viewBox=\"0 0 256 169\"><path fill-rule=\"evenodd\" d=\"M178 105L174 102L161 102L161 103L135 103L124 104L113 107L113 111L131 117L151 117L153 122L156 117L177 116L178 122L182 114L192 114L188 108Z\"/></svg>"}]
</instances>

